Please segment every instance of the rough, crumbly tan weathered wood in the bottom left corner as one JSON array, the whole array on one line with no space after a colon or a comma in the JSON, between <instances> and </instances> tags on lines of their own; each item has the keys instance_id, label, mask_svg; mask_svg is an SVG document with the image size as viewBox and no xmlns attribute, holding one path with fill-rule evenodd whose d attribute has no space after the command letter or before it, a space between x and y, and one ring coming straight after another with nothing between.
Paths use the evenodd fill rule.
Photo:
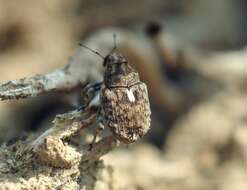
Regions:
<instances>
[{"instance_id":1,"label":"rough, crumbly tan weathered wood in the bottom left corner","mask_svg":"<svg viewBox=\"0 0 247 190\"><path fill-rule=\"evenodd\" d=\"M94 175L101 175L100 157L119 143L109 136L94 144L92 149L89 145L70 144L68 139L95 121L93 113L89 118L84 118L83 114L75 110L58 115L54 126L34 140L29 138L0 147L0 189L93 187ZM94 180L80 181L83 177Z\"/></svg>"}]
</instances>

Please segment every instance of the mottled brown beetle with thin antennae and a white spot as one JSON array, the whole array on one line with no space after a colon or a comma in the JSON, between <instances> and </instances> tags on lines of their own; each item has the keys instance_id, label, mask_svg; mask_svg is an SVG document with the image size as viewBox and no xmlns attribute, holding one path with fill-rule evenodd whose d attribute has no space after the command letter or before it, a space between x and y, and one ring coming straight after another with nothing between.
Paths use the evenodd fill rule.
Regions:
<instances>
[{"instance_id":1,"label":"mottled brown beetle with thin antennae and a white spot","mask_svg":"<svg viewBox=\"0 0 247 190\"><path fill-rule=\"evenodd\" d=\"M143 137L150 128L150 105L147 86L125 57L114 48L107 56L88 48L103 59L104 81L89 106L98 106L98 122L109 127L114 136L124 143Z\"/></svg>"}]
</instances>

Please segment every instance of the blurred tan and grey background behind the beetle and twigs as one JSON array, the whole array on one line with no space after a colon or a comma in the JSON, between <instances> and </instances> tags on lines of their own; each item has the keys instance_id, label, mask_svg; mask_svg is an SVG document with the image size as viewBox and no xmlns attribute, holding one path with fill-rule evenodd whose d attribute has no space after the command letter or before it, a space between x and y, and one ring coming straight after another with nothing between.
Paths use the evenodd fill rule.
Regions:
<instances>
[{"instance_id":1,"label":"blurred tan and grey background behind the beetle and twigs","mask_svg":"<svg viewBox=\"0 0 247 190\"><path fill-rule=\"evenodd\" d=\"M0 0L0 82L62 68L78 42L97 43L117 31L120 52L148 85L152 125L141 142L104 158L114 169L113 189L243 190L246 5L244 0ZM0 102L0 143L50 127L56 114L75 107L66 97Z\"/></svg>"}]
</instances>

